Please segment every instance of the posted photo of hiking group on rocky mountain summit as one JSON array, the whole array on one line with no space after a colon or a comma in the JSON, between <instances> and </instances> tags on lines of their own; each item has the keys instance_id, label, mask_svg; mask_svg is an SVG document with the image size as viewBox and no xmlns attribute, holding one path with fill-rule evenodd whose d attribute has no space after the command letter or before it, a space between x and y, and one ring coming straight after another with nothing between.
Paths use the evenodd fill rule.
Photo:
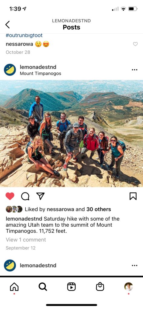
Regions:
<instances>
[{"instance_id":1,"label":"posted photo of hiking group on rocky mountain summit","mask_svg":"<svg viewBox=\"0 0 143 309\"><path fill-rule=\"evenodd\" d=\"M3 81L0 186L142 186L143 82L62 82Z\"/></svg>"}]
</instances>

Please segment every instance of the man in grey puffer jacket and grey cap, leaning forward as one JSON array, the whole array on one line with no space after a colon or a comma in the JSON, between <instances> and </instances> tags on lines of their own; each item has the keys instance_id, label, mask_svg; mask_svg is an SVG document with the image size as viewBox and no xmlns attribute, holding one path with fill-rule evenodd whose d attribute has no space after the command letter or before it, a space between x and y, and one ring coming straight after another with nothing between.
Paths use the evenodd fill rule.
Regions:
<instances>
[{"instance_id":1,"label":"man in grey puffer jacket and grey cap, leaning forward","mask_svg":"<svg viewBox=\"0 0 143 309\"><path fill-rule=\"evenodd\" d=\"M72 125L69 125L69 128ZM68 128L67 128L68 129ZM63 170L67 171L67 163L68 161L73 157L74 162L79 162L79 159L77 159L77 155L80 152L80 142L82 141L83 134L82 131L79 129L78 122L75 122L73 124L73 127L70 128L66 132L64 144L67 151L67 158L65 160L65 163L63 165Z\"/></svg>"}]
</instances>

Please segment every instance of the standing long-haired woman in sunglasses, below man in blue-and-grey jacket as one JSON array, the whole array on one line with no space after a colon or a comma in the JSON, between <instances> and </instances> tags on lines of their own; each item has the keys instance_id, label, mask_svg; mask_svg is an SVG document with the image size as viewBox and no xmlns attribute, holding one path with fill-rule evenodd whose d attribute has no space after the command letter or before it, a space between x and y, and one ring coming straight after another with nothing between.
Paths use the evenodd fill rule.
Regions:
<instances>
[{"instance_id":1,"label":"standing long-haired woman in sunglasses, below man in blue-and-grey jacket","mask_svg":"<svg viewBox=\"0 0 143 309\"><path fill-rule=\"evenodd\" d=\"M52 129L51 115L49 112L46 112L44 114L44 120L40 124L39 132L43 142L46 142L48 146L49 154L55 155L54 152L52 152L52 148L54 147L54 145L51 143L51 129Z\"/></svg>"}]
</instances>

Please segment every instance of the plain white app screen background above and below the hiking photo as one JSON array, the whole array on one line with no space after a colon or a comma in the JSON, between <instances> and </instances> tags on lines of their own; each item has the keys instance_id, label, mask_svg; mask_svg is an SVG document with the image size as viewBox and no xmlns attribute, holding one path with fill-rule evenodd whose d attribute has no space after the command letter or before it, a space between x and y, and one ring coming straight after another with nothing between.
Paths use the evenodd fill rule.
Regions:
<instances>
[{"instance_id":1,"label":"plain white app screen background above and below the hiking photo","mask_svg":"<svg viewBox=\"0 0 143 309\"><path fill-rule=\"evenodd\" d=\"M9 3L9 4L8 4ZM27 11L10 12L9 6L19 5L18 2L5 2L1 16L1 64L0 79L29 79L19 76L19 65L57 65L57 71L62 75L58 77L44 77L44 79L142 79L142 4L140 1L131 3L124 1L99 2L94 1L54 1L54 2L30 2L23 1L20 5L27 6ZM46 6L45 6L46 5ZM137 12L112 12L116 6L130 5L138 7ZM52 18L90 18L89 24L77 24L81 29L78 31L64 31L62 24L51 23ZM10 20L8 29L5 23ZM48 48L37 48L34 44L37 38L6 38L5 33L44 33L41 42L48 40ZM49 34L48 34L49 33ZM58 34L57 34L58 33ZM84 34L86 33L86 34ZM98 33L98 34L97 34ZM99 33L102 33L101 35ZM105 35L106 33L106 35ZM125 34L123 34L125 33ZM30 55L7 55L6 50L25 50L23 47L6 47L6 42L33 42ZM137 46L133 42L138 42ZM29 49L29 48L27 48ZM15 75L8 77L3 68L7 63L16 66ZM132 71L132 68L137 71ZM30 79L43 79L40 76L31 76ZM45 192L41 201L38 200L36 191L39 189L28 188L30 200L22 201L21 193L25 188L0 188L1 194L1 275L142 275L142 188L42 188ZM15 197L8 201L6 192L14 192ZM137 192L137 201L129 201L129 192ZM46 243L36 243L36 251L13 251L7 252L6 245L13 246L22 243L7 243L6 237L12 238L17 235L5 233L5 217L23 216L20 214L7 214L7 205L24 206L93 206L111 207L111 212L95 212L94 217L119 217L119 222L112 222L110 228L79 228L68 229L67 234L48 234ZM70 216L69 213L28 213L28 216ZM91 215L89 213L75 212L78 215ZM33 235L20 234L21 237L32 238ZM20 237L19 236L19 237ZM35 235L34 235L35 236ZM38 237L43 235L37 234ZM25 245L25 243L24 243ZM29 244L26 244L29 245ZM34 243L35 245L35 243ZM45 246L44 246L45 245ZM13 259L16 262L14 272L7 272L3 264L5 260ZM19 264L55 263L53 269L24 269ZM132 266L138 265L137 267ZM11 279L11 280L10 280ZM79 281L78 281L79 280ZM92 303L96 301L100 308L120 308L135 306L140 308L140 295L142 279L133 279L134 289L132 294L127 295L124 284L131 279L106 279L106 289L103 294L95 292L93 279L46 279L48 292L38 289L39 279L1 278L1 300L4 308L45 308L50 302ZM85 281L84 281L85 280ZM9 291L9 285L16 281L20 284L19 292L15 295ZM41 280L43 281L43 279ZM79 282L78 289L69 294L66 290L68 281ZM32 284L31 284L32 282ZM61 284L62 282L62 284ZM97 282L96 282L97 283ZM77 284L78 286L78 284ZM108 288L107 288L108 286ZM82 288L83 287L83 288ZM64 290L65 289L65 290ZM94 292L96 294L94 294ZM71 296L70 296L71 295ZM74 298L73 298L73 295ZM101 295L101 296L100 296ZM103 295L103 296L102 296ZM14 301L14 297L17 301ZM7 298L7 301L6 301ZM90 299L90 301L89 301ZM22 304L21 304L22 302ZM110 303L111 302L111 303ZM139 303L137 303L139 302Z\"/></svg>"}]
</instances>

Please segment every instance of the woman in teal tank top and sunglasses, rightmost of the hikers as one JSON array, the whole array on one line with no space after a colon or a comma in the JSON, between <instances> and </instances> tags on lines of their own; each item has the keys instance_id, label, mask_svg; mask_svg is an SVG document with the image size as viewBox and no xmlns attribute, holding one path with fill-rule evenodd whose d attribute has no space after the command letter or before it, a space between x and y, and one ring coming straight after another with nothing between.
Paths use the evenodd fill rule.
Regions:
<instances>
[{"instance_id":1,"label":"woman in teal tank top and sunglasses, rightmost of the hikers","mask_svg":"<svg viewBox=\"0 0 143 309\"><path fill-rule=\"evenodd\" d=\"M122 163L123 157L124 157L124 151L126 150L126 146L124 142L118 141L116 136L111 137L111 143L109 145L108 150L112 150L112 159L110 165L108 167L113 170L113 166L116 162L116 178L119 179L120 175L120 165ZM123 146L121 146L121 143Z\"/></svg>"}]
</instances>

